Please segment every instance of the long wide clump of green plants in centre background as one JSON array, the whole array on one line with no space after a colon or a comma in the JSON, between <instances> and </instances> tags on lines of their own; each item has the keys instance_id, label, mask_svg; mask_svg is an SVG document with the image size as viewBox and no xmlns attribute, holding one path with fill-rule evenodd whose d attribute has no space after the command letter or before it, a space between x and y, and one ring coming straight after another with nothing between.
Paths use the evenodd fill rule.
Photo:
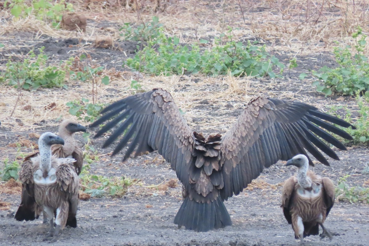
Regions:
<instances>
[{"instance_id":1,"label":"long wide clump of green plants in centre background","mask_svg":"<svg viewBox=\"0 0 369 246\"><path fill-rule=\"evenodd\" d=\"M270 76L276 77L273 72L279 67L281 73L284 65L266 51L266 46L258 46L255 41L247 44L233 40L232 29L227 35L223 34L215 38L213 48L200 49L199 44L191 46L179 43L179 38L168 37L163 29L157 25L151 25L150 33L142 39L148 39L141 51L134 58L128 58L124 65L139 72L155 75L181 75L184 73L203 73L205 75L227 75L231 71L232 76ZM156 29L155 29L156 28ZM137 31L138 32L138 31ZM155 37L149 39L149 37ZM135 36L137 39L138 36ZM225 39L225 41L223 40ZM200 44L206 44L207 40L200 40Z\"/></svg>"}]
</instances>

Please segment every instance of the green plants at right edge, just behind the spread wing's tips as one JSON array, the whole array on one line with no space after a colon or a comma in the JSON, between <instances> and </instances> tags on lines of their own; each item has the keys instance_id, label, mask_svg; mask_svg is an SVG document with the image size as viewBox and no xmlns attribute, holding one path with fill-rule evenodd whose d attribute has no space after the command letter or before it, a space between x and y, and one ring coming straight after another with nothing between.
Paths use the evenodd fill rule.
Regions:
<instances>
[{"instance_id":1,"label":"green plants at right edge, just behind the spread wing's tips","mask_svg":"<svg viewBox=\"0 0 369 246\"><path fill-rule=\"evenodd\" d=\"M339 114L337 114L338 110L345 110L346 114L344 120L349 122L350 124L355 125L356 129L349 128L342 128L352 136L354 139L353 142L356 143L364 143L366 145L369 144L369 92L365 93L363 97L359 95L356 96L356 102L358 104L358 111L359 114L356 118L356 121L352 121L352 111L349 110L346 106L332 106L330 108L330 113L335 115L338 118L342 118ZM338 126L339 127L339 126ZM346 141L342 138L342 141Z\"/></svg>"}]
</instances>

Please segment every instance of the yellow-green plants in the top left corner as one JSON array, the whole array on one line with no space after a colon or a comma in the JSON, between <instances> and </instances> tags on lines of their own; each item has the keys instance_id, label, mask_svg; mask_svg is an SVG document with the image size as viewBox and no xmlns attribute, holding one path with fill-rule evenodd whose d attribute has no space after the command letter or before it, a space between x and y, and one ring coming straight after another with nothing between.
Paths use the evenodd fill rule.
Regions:
<instances>
[{"instance_id":1,"label":"yellow-green plants in the top left corner","mask_svg":"<svg viewBox=\"0 0 369 246\"><path fill-rule=\"evenodd\" d=\"M38 20L51 22L53 27L59 27L64 11L73 11L72 3L65 0L58 2L51 0L12 0L5 1L4 7L10 8L10 13L16 18L25 18L33 15Z\"/></svg>"}]
</instances>

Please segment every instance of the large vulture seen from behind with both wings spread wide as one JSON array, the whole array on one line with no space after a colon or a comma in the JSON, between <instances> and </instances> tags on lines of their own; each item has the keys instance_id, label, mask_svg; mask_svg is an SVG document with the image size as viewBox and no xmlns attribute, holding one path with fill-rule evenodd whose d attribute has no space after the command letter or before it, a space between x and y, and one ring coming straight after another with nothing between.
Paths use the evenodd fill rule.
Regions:
<instances>
[{"instance_id":1,"label":"large vulture seen from behind with both wings spread wide","mask_svg":"<svg viewBox=\"0 0 369 246\"><path fill-rule=\"evenodd\" d=\"M345 150L341 142L321 128L352 139L328 122L353 127L311 105L260 96L249 101L223 138L220 134L204 138L191 131L172 96L163 89L126 97L101 113L103 116L91 127L116 117L107 122L95 138L117 126L103 147L124 134L113 155L132 138L124 160L138 145L135 156L158 150L170 163L184 191L184 201L174 223L194 231L231 225L223 201L238 195L264 167L278 160L288 160L299 153L306 155L308 150L321 163L329 165L317 148L338 160L335 152L314 134ZM313 165L310 158L308 160Z\"/></svg>"}]
</instances>

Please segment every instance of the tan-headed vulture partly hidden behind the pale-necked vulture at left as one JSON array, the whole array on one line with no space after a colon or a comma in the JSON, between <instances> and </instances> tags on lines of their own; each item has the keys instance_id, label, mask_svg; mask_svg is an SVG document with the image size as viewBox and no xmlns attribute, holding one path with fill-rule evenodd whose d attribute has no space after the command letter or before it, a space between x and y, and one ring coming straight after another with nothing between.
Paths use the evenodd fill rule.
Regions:
<instances>
[{"instance_id":1,"label":"tan-headed vulture partly hidden behind the pale-necked vulture at left","mask_svg":"<svg viewBox=\"0 0 369 246\"><path fill-rule=\"evenodd\" d=\"M83 152L82 148L80 148L75 139L73 137L75 132L86 132L86 127L78 124L76 121L72 119L65 119L59 126L59 135L62 139L64 139L64 145L62 144L54 144L51 146L52 155L55 155L58 158L73 158L76 162L73 163L75 167L75 171L77 175L81 172L83 165ZM38 155L39 152L32 153L24 158L23 163L31 162L31 158ZM23 186L22 188L22 197L21 204L18 207L17 212L15 213L15 219L17 221L29 221L38 218L40 208L37 207L35 203L35 198L33 195L27 193L27 189ZM44 216L44 222L47 222L46 216ZM69 221L68 221L69 222ZM69 224L67 224L69 225ZM69 226L74 226L70 224ZM74 226L75 227L75 226Z\"/></svg>"}]
</instances>

